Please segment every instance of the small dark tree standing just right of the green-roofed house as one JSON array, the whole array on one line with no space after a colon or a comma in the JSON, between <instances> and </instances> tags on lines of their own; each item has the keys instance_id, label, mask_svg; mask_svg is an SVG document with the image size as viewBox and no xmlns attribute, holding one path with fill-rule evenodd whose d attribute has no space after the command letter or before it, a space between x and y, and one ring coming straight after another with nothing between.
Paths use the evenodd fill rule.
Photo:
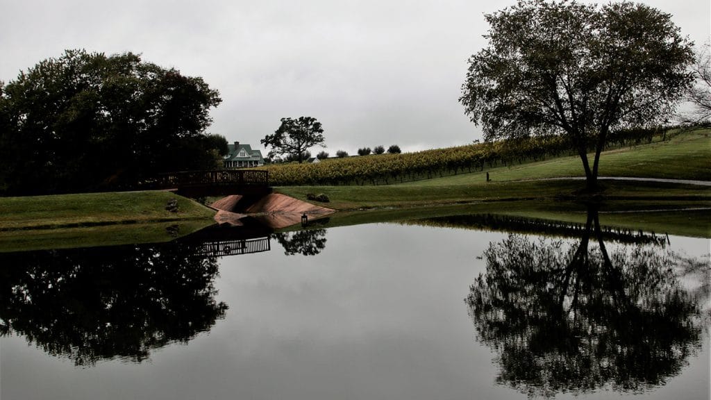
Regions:
<instances>
[{"instance_id":1,"label":"small dark tree standing just right of the green-roofed house","mask_svg":"<svg viewBox=\"0 0 711 400\"><path fill-rule=\"evenodd\" d=\"M324 146L324 128L314 117L282 118L282 125L260 141L264 147L272 147L269 158L276 155L290 155L304 161L304 153L311 147Z\"/></svg>"}]
</instances>

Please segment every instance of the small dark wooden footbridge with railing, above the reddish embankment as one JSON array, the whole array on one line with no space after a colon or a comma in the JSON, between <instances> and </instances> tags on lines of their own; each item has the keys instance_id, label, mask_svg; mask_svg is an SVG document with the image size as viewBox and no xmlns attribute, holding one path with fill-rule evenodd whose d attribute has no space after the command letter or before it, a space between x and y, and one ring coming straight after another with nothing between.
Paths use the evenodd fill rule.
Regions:
<instances>
[{"instance_id":1,"label":"small dark wooden footbridge with railing, above the reddish embankment","mask_svg":"<svg viewBox=\"0 0 711 400\"><path fill-rule=\"evenodd\" d=\"M269 172L253 169L216 169L160 174L149 182L152 189L175 190L188 197L269 194Z\"/></svg>"}]
</instances>

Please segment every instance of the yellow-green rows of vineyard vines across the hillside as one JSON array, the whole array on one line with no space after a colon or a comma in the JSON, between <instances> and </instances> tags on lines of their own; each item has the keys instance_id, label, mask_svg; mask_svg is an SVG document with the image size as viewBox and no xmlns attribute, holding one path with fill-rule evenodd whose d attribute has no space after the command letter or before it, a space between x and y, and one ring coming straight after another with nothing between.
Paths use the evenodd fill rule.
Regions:
<instances>
[{"instance_id":1,"label":"yellow-green rows of vineyard vines across the hillside","mask_svg":"<svg viewBox=\"0 0 711 400\"><path fill-rule=\"evenodd\" d=\"M679 127L656 127L611 132L608 147L668 140ZM404 154L380 154L329 159L319 164L281 164L263 167L274 186L393 184L444 177L514 163L576 154L561 136L475 143Z\"/></svg>"}]
</instances>

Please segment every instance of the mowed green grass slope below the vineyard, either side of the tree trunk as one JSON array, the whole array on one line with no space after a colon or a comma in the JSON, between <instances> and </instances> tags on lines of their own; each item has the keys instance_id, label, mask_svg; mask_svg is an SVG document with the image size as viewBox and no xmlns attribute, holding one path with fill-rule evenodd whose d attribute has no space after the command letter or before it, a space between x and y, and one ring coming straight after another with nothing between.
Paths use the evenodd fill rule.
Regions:
<instances>
[{"instance_id":1,"label":"mowed green grass slope below the vineyard, either side of the tree trunk","mask_svg":"<svg viewBox=\"0 0 711 400\"><path fill-rule=\"evenodd\" d=\"M592 158L592 156L591 156ZM604 152L600 176L711 180L711 130L687 132L666 142ZM486 182L488 172L491 182ZM306 200L306 194L324 193L334 209L423 206L471 201L516 199L568 199L584 186L582 181L536 181L553 177L584 177L579 157L560 157L483 172L459 174L403 184L381 186L282 186L277 191ZM684 184L604 181L610 199L664 199L707 205L711 187Z\"/></svg>"}]
</instances>

